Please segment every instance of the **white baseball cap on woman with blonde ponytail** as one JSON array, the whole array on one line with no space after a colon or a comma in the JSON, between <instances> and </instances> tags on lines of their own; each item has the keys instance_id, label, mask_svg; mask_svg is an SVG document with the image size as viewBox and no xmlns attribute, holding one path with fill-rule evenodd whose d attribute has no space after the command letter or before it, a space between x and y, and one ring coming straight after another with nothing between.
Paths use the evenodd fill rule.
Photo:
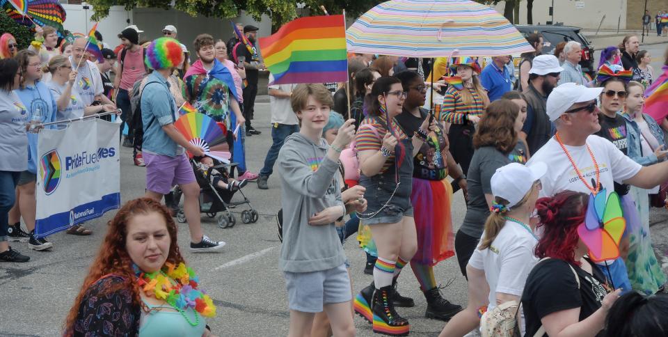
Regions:
<instances>
[{"instance_id":1,"label":"white baseball cap on woman with blonde ponytail","mask_svg":"<svg viewBox=\"0 0 668 337\"><path fill-rule=\"evenodd\" d=\"M506 207L512 208L531 191L534 182L547 171L548 166L543 162L535 162L531 166L519 163L502 166L492 175L492 194L506 199L509 202Z\"/></svg>"}]
</instances>

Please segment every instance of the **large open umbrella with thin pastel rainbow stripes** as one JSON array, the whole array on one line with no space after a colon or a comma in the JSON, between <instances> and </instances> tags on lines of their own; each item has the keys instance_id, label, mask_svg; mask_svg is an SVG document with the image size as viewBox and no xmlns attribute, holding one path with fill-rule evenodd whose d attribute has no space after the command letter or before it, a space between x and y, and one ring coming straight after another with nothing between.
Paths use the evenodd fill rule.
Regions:
<instances>
[{"instance_id":1,"label":"large open umbrella with thin pastel rainbow stripes","mask_svg":"<svg viewBox=\"0 0 668 337\"><path fill-rule=\"evenodd\" d=\"M533 52L493 8L468 0L391 0L347 30L348 52L411 57Z\"/></svg>"}]
</instances>

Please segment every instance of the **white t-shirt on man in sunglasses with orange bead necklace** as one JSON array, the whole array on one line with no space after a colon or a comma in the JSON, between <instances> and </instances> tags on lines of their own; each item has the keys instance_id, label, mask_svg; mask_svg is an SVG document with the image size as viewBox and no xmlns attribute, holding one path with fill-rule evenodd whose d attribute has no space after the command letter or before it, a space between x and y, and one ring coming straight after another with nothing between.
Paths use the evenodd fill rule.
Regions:
<instances>
[{"instance_id":1,"label":"white t-shirt on man in sunglasses with orange bead necklace","mask_svg":"<svg viewBox=\"0 0 668 337\"><path fill-rule=\"evenodd\" d=\"M587 137L587 145L594 153L594 158L598 163L598 169L601 176L601 185L610 195L614 191L614 182L622 183L624 180L636 175L642 166L623 154L613 143L599 136L591 135ZM582 173L587 184L591 187L596 185L596 170L594 162L591 161L587 146L566 146L566 150L571 154L575 165ZM535 162L547 164L548 171L541 178L543 189L540 196L554 196L560 191L578 191L590 194L591 191L578 178L571 162L566 157L566 153L555 140L550 140L527 162L531 166ZM594 182L592 182L594 180Z\"/></svg>"}]
</instances>

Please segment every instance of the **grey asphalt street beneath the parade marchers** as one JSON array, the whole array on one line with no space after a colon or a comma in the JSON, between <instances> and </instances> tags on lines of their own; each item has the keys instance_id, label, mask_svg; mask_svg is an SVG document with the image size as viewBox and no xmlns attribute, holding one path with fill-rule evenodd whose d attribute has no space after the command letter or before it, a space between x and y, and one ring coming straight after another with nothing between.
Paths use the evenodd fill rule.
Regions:
<instances>
[{"instance_id":1,"label":"grey asphalt street beneath the parade marchers","mask_svg":"<svg viewBox=\"0 0 668 337\"><path fill-rule=\"evenodd\" d=\"M664 46L655 47L653 55L662 54ZM660 69L660 67L655 67ZM271 145L269 99L258 97L253 125L262 131L247 139L249 169L260 171L264 155ZM132 151L122 148L121 195L122 201L143 196L145 169L132 164ZM269 179L269 190L257 189L255 183L244 188L246 196L260 213L256 224L241 224L237 207L237 225L218 228L214 219L202 214L202 228L214 240L224 240L222 253L193 254L187 249L187 226L180 225L179 242L184 258L198 272L201 287L214 299L218 309L216 318L207 320L218 336L286 336L289 324L287 296L282 273L278 270L280 242L276 235L275 214L280 207L280 181L276 175ZM459 228L466 211L461 192L452 201L453 224ZM31 257L24 264L0 265L0 336L59 336L63 321L79 292L100 242L106 232L106 221L113 217L108 212L87 226L95 231L90 237L58 233L49 237L52 251L38 252L27 249L27 244L14 243L13 247ZM668 271L668 213L653 210L651 222L656 251ZM364 253L351 237L344 245L351 262L353 288L357 292L372 277L363 274ZM450 301L466 306L466 280L461 276L455 258L436 267L438 283L450 285L443 295ZM415 299L414 308L399 308L399 313L411 322L411 336L437 336L444 322L424 318L426 303L411 269L406 267L399 279L402 295ZM374 336L369 324L355 318L358 336Z\"/></svg>"}]
</instances>

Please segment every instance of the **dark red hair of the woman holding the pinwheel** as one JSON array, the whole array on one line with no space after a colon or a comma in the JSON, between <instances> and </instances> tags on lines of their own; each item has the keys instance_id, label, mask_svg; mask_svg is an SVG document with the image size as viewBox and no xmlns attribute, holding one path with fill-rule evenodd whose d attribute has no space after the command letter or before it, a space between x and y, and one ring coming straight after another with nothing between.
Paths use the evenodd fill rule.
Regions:
<instances>
[{"instance_id":1,"label":"dark red hair of the woman holding the pinwheel","mask_svg":"<svg viewBox=\"0 0 668 337\"><path fill-rule=\"evenodd\" d=\"M538 227L543 228L543 236L536 245L538 258L558 258L580 265L575 261L575 248L580 240L578 226L584 221L588 204L587 194L575 191L562 191L536 201Z\"/></svg>"}]
</instances>

